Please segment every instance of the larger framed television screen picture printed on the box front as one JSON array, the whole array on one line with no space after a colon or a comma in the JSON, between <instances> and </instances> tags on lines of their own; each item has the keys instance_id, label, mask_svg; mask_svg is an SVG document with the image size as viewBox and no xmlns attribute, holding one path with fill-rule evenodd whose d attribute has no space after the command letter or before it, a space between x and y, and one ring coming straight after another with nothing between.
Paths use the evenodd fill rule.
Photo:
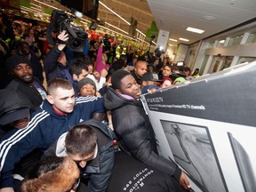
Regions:
<instances>
[{"instance_id":1,"label":"larger framed television screen picture printed on the box front","mask_svg":"<svg viewBox=\"0 0 256 192\"><path fill-rule=\"evenodd\" d=\"M177 164L202 191L224 192L227 186L208 128L160 120Z\"/></svg>"}]
</instances>

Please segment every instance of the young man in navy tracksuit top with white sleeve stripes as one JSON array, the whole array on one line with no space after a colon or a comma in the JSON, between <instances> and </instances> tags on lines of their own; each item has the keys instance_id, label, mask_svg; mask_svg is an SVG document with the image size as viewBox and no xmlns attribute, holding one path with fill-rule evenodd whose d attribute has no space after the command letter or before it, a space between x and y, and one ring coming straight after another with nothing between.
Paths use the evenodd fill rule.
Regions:
<instances>
[{"instance_id":1,"label":"young man in navy tracksuit top with white sleeve stripes","mask_svg":"<svg viewBox=\"0 0 256 192\"><path fill-rule=\"evenodd\" d=\"M75 124L91 118L93 113L105 113L102 98L75 98L72 84L65 79L53 79L48 84L44 100L24 129L6 133L0 140L1 189L14 188L14 164L35 148L45 150Z\"/></svg>"}]
</instances>

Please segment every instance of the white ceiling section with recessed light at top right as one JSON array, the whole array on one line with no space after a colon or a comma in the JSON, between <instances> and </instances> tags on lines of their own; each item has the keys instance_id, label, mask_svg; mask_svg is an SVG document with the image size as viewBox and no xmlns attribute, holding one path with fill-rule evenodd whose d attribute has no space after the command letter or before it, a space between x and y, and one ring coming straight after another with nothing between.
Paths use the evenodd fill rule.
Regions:
<instances>
[{"instance_id":1,"label":"white ceiling section with recessed light at top right","mask_svg":"<svg viewBox=\"0 0 256 192\"><path fill-rule=\"evenodd\" d=\"M148 6L158 29L170 31L171 38L188 38L188 44L256 18L256 0L148 0ZM191 33L188 27L205 32Z\"/></svg>"}]
</instances>

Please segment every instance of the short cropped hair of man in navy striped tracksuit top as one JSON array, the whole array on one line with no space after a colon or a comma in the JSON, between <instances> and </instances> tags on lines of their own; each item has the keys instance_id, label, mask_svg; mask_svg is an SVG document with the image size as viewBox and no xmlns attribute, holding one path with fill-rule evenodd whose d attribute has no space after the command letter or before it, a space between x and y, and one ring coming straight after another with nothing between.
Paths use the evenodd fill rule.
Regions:
<instances>
[{"instance_id":1,"label":"short cropped hair of man in navy striped tracksuit top","mask_svg":"<svg viewBox=\"0 0 256 192\"><path fill-rule=\"evenodd\" d=\"M73 86L67 79L54 78L51 81L49 81L47 86L47 92L48 94L52 95L52 93L58 88L61 88L64 90L70 90L70 89L73 89Z\"/></svg>"}]
</instances>

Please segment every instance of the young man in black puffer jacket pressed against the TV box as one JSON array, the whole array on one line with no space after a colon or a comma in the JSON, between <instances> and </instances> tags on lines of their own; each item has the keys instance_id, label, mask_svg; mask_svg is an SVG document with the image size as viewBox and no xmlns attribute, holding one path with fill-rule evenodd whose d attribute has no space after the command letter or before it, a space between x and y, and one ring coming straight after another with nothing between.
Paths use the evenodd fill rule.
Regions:
<instances>
[{"instance_id":1,"label":"young man in black puffer jacket pressed against the TV box","mask_svg":"<svg viewBox=\"0 0 256 192\"><path fill-rule=\"evenodd\" d=\"M141 163L171 176L175 191L186 191L190 188L186 174L172 160L158 155L155 132L139 100L139 84L124 70L116 71L111 82L112 87L109 86L104 95L104 104L112 112L120 148Z\"/></svg>"}]
</instances>

